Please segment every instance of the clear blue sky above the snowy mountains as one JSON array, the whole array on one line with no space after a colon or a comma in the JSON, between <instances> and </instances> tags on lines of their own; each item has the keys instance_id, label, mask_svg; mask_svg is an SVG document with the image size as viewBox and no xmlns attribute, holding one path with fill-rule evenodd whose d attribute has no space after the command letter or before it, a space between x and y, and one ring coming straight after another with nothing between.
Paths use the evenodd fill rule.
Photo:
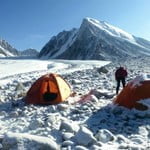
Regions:
<instances>
[{"instance_id":1,"label":"clear blue sky above the snowy mountains","mask_svg":"<svg viewBox=\"0 0 150 150\"><path fill-rule=\"evenodd\" d=\"M91 17L150 40L150 0L0 0L0 38L19 50L41 48Z\"/></svg>"}]
</instances>

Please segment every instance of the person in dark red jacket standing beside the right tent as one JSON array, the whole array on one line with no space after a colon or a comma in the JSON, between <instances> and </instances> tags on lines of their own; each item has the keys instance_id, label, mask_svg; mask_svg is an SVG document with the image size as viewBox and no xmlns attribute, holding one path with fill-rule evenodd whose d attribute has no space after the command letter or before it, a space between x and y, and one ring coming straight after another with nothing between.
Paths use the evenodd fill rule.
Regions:
<instances>
[{"instance_id":1,"label":"person in dark red jacket standing beside the right tent","mask_svg":"<svg viewBox=\"0 0 150 150\"><path fill-rule=\"evenodd\" d=\"M116 94L118 94L119 92L120 82L122 82L123 88L125 87L127 75L128 75L127 70L124 67L119 67L116 70L115 72L115 79L117 81Z\"/></svg>"}]
</instances>

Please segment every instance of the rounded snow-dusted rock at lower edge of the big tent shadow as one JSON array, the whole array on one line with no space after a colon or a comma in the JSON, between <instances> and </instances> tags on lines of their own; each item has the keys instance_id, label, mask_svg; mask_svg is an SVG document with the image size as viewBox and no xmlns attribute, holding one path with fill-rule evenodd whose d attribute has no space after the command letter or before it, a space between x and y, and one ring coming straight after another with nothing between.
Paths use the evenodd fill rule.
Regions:
<instances>
[{"instance_id":1,"label":"rounded snow-dusted rock at lower edge of the big tent shadow","mask_svg":"<svg viewBox=\"0 0 150 150\"><path fill-rule=\"evenodd\" d=\"M97 140L103 143L115 140L115 136L109 130L106 129L99 130L99 132L95 135L95 137Z\"/></svg>"}]
</instances>

